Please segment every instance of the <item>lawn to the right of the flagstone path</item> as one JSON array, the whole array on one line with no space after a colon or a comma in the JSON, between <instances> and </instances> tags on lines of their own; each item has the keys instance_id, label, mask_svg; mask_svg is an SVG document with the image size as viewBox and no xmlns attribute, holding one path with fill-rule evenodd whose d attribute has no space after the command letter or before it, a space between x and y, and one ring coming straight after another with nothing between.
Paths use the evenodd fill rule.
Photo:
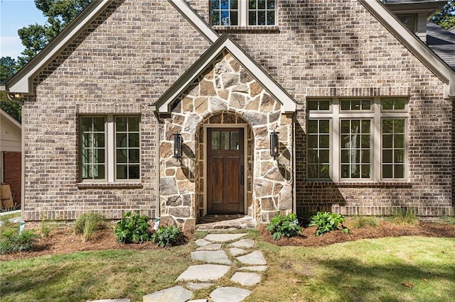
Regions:
<instances>
[{"instance_id":1,"label":"lawn to the right of the flagstone path","mask_svg":"<svg viewBox=\"0 0 455 302\"><path fill-rule=\"evenodd\" d=\"M454 238L261 245L270 269L247 301L451 301L455 295Z\"/></svg>"}]
</instances>

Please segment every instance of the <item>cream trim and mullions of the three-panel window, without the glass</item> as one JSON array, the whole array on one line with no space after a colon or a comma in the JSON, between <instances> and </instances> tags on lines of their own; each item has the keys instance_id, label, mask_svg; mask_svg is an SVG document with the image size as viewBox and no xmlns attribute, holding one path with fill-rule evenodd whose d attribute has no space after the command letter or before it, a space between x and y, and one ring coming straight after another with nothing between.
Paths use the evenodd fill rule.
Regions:
<instances>
[{"instance_id":1,"label":"cream trim and mullions of the three-panel window, without the glass","mask_svg":"<svg viewBox=\"0 0 455 302\"><path fill-rule=\"evenodd\" d=\"M400 97L401 98L401 97ZM316 98L315 98L316 99ZM370 111L341 111L340 100L343 99L371 99L372 106ZM330 109L328 111L310 111L307 113L307 118L330 120L330 177L331 181L335 182L365 182L365 181L391 181L402 182L408 179L409 164L407 162L408 146L407 146L407 119L409 114L407 111L407 103L405 110L381 110L381 99L388 97L363 97L363 98L332 98ZM404 98L403 98L404 99ZM311 100L311 99L309 99ZM341 145L340 145L340 121L343 118L352 119L370 119L371 126L371 153L370 153L370 178L349 178L341 179ZM400 179L382 179L382 129L381 122L384 118L402 118L405 119L405 177ZM337 135L334 135L338 133ZM325 181L326 179L308 179L309 181Z\"/></svg>"}]
</instances>

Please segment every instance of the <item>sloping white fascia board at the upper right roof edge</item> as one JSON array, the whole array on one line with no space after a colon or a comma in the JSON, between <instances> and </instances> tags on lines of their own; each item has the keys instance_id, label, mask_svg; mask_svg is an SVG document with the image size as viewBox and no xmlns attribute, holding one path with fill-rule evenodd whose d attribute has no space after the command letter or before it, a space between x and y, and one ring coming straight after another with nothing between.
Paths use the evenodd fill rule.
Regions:
<instances>
[{"instance_id":1,"label":"sloping white fascia board at the upper right roof edge","mask_svg":"<svg viewBox=\"0 0 455 302\"><path fill-rule=\"evenodd\" d=\"M392 35L400 40L413 55L429 70L444 82L444 98L455 97L455 72L425 45L417 35L407 30L405 26L378 0L358 0L370 13L384 25Z\"/></svg>"}]
</instances>

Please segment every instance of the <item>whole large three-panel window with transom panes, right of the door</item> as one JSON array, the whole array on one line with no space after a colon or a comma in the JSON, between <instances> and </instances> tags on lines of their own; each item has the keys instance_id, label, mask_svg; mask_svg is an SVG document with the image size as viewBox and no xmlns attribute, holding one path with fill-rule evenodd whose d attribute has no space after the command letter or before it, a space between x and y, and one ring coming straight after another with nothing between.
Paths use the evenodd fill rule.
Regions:
<instances>
[{"instance_id":1,"label":"whole large three-panel window with transom panes, right of the door","mask_svg":"<svg viewBox=\"0 0 455 302\"><path fill-rule=\"evenodd\" d=\"M309 99L307 179L407 178L407 99Z\"/></svg>"}]
</instances>

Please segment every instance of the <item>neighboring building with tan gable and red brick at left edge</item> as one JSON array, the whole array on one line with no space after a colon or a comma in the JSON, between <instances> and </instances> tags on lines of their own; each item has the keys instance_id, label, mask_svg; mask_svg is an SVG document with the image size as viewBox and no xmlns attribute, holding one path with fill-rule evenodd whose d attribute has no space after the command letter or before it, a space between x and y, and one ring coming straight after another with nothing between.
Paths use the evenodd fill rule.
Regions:
<instances>
[{"instance_id":1,"label":"neighboring building with tan gable and red brick at left edge","mask_svg":"<svg viewBox=\"0 0 455 302\"><path fill-rule=\"evenodd\" d=\"M9 184L15 206L21 206L21 150L21 124L0 109L0 183Z\"/></svg>"}]
</instances>

